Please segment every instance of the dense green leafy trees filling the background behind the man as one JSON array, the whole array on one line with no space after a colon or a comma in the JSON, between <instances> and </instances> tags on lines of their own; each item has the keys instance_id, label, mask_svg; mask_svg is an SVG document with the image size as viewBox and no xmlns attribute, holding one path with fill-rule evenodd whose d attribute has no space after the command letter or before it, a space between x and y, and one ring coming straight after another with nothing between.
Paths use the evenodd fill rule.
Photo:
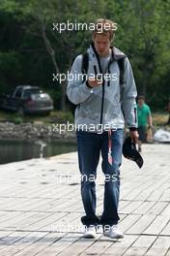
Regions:
<instances>
[{"instance_id":1,"label":"dense green leafy trees filling the background behind the man","mask_svg":"<svg viewBox=\"0 0 170 256\"><path fill-rule=\"evenodd\" d=\"M169 16L169 0L1 0L0 92L40 85L57 109L66 109L66 83L54 82L52 73L71 68L89 46L91 31L59 33L53 23L107 17L118 23L114 45L128 55L138 92L151 107L163 109L170 95Z\"/></svg>"}]
</instances>

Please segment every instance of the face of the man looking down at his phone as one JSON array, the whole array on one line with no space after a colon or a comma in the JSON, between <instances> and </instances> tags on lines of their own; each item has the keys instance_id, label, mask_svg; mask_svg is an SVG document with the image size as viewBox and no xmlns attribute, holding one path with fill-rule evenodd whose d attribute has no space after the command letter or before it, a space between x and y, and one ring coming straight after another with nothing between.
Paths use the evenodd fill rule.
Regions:
<instances>
[{"instance_id":1,"label":"face of the man looking down at his phone","mask_svg":"<svg viewBox=\"0 0 170 256\"><path fill-rule=\"evenodd\" d=\"M93 41L99 56L108 55L110 40L107 36L96 34L95 38L93 37Z\"/></svg>"}]
</instances>

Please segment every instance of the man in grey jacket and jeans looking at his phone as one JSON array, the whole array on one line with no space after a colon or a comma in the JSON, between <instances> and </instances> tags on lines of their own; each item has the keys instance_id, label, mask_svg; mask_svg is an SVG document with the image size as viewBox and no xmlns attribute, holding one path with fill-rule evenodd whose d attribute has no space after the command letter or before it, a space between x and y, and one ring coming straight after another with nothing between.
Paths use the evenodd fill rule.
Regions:
<instances>
[{"instance_id":1,"label":"man in grey jacket and jeans looking at his phone","mask_svg":"<svg viewBox=\"0 0 170 256\"><path fill-rule=\"evenodd\" d=\"M103 227L104 236L124 238L118 229L118 205L125 122L131 140L137 142L138 138L136 86L128 57L118 48L111 47L113 27L114 22L111 20L97 20L93 42L87 50L88 70L82 70L83 56L78 55L71 67L73 79L69 80L67 88L69 99L77 105L75 126L78 127L78 163L83 177L81 196L86 213L81 217L86 227L84 238L95 238L99 224ZM124 69L120 61L123 61ZM77 79L78 74L86 72L86 80L84 76ZM96 183L91 177L97 176L100 152L105 183L103 212L99 219L96 215Z\"/></svg>"}]
</instances>

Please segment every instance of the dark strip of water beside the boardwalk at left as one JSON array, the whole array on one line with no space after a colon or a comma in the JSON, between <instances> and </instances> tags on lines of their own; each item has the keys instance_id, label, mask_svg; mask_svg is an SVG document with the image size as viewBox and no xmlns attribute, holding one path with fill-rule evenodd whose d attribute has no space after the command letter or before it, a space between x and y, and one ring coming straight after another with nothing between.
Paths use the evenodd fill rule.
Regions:
<instances>
[{"instance_id":1,"label":"dark strip of water beside the boardwalk at left","mask_svg":"<svg viewBox=\"0 0 170 256\"><path fill-rule=\"evenodd\" d=\"M17 142L0 141L0 164L31 158L49 157L76 151L76 142Z\"/></svg>"}]
</instances>

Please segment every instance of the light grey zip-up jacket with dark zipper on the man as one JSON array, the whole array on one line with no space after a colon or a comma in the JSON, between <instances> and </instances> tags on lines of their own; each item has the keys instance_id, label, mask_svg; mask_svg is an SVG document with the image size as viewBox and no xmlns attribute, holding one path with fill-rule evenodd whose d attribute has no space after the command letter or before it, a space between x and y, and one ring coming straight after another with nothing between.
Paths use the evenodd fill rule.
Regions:
<instances>
[{"instance_id":1,"label":"light grey zip-up jacket with dark zipper on the man","mask_svg":"<svg viewBox=\"0 0 170 256\"><path fill-rule=\"evenodd\" d=\"M99 54L94 46L91 45L87 52L89 65L85 75L88 79L96 73L102 74L102 84L95 88L88 87L87 81L84 81L82 76L82 55L78 55L72 64L71 79L67 87L68 98L77 105L75 128L89 132L103 132L108 129L124 128L126 124L130 130L135 130L137 92L128 57L118 48L111 48L110 60L103 72ZM117 63L120 58L125 59L123 84L120 84L120 69Z\"/></svg>"}]
</instances>

